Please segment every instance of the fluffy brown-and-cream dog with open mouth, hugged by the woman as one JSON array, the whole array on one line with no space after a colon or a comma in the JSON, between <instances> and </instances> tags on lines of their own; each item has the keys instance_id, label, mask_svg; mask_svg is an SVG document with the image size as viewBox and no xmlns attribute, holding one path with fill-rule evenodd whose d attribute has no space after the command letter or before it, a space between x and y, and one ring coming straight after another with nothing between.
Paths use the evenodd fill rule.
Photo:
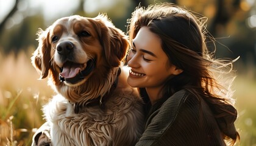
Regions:
<instances>
[{"instance_id":1,"label":"fluffy brown-and-cream dog with open mouth, hugged by the woman","mask_svg":"<svg viewBox=\"0 0 256 146\"><path fill-rule=\"evenodd\" d=\"M143 101L126 82L126 35L107 15L73 15L40 29L37 40L32 64L56 95L32 145L135 145Z\"/></svg>"}]
</instances>

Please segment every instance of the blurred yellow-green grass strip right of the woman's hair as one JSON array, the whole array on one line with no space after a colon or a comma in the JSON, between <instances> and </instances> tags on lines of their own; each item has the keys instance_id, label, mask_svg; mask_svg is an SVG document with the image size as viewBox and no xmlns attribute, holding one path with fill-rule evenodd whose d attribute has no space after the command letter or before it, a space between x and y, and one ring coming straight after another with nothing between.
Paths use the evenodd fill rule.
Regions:
<instances>
[{"instance_id":1,"label":"blurred yellow-green grass strip right of the woman's hair","mask_svg":"<svg viewBox=\"0 0 256 146\"><path fill-rule=\"evenodd\" d=\"M241 136L240 145L256 144L256 82L255 78L249 78L246 74L238 75L235 80L236 107L238 108L238 119L236 128Z\"/></svg>"}]
</instances>

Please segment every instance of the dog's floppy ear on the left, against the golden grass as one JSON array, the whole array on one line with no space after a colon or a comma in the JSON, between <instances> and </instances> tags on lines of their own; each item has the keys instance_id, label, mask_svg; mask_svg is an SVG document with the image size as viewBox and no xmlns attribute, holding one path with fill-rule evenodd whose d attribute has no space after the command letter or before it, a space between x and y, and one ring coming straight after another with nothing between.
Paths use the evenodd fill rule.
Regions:
<instances>
[{"instance_id":1,"label":"dog's floppy ear on the left, against the golden grass","mask_svg":"<svg viewBox=\"0 0 256 146\"><path fill-rule=\"evenodd\" d=\"M49 29L38 31L38 47L31 57L32 64L40 72L40 79L48 76L51 59L51 46L49 45Z\"/></svg>"}]
</instances>

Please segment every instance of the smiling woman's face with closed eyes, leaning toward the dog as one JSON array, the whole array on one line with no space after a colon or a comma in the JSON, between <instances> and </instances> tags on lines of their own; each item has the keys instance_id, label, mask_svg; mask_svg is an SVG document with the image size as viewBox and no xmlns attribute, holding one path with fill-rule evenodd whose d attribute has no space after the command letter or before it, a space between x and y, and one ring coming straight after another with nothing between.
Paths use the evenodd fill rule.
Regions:
<instances>
[{"instance_id":1,"label":"smiling woman's face with closed eyes, leaning toward the dog","mask_svg":"<svg viewBox=\"0 0 256 146\"><path fill-rule=\"evenodd\" d=\"M166 78L176 74L176 66L169 64L161 40L148 27L141 27L133 39L127 57L130 74L127 82L136 88L160 89ZM168 65L167 65L168 63Z\"/></svg>"}]
</instances>

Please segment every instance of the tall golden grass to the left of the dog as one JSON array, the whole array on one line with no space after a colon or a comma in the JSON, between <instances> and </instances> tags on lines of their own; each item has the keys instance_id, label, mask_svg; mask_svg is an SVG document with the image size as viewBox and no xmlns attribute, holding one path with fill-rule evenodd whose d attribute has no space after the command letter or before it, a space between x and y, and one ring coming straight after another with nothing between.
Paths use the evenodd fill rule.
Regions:
<instances>
[{"instance_id":1,"label":"tall golden grass to the left of the dog","mask_svg":"<svg viewBox=\"0 0 256 146\"><path fill-rule=\"evenodd\" d=\"M0 55L0 71L0 145L31 145L33 131L43 123L41 106L54 92L47 80L38 80L25 53Z\"/></svg>"}]
</instances>

